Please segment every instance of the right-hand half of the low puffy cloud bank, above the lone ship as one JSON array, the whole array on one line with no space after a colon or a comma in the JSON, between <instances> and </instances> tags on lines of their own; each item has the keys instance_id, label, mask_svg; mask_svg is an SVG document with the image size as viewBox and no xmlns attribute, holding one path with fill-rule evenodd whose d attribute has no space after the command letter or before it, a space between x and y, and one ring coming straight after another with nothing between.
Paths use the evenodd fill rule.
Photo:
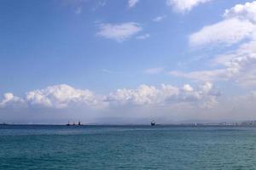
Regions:
<instances>
[{"instance_id":1,"label":"right-hand half of the low puffy cloud bank, above the lone ship","mask_svg":"<svg viewBox=\"0 0 256 170\"><path fill-rule=\"evenodd\" d=\"M218 93L212 83L192 88L189 84L183 88L162 84L160 88L141 85L136 89L118 89L107 97L110 105L174 105L186 103L197 107L212 107L216 105Z\"/></svg>"}]
</instances>

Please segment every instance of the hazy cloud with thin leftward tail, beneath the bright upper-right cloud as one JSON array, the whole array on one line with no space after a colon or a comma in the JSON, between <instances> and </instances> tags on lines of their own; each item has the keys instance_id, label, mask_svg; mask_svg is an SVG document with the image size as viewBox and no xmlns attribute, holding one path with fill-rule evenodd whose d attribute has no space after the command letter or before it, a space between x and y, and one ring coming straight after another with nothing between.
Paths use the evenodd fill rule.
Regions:
<instances>
[{"instance_id":1,"label":"hazy cloud with thin leftward tail, beneath the bright upper-right cloud","mask_svg":"<svg viewBox=\"0 0 256 170\"><path fill-rule=\"evenodd\" d=\"M199 81L232 81L241 86L256 85L256 41L241 44L227 54L218 55L212 64L222 67L211 71L170 71L175 77L185 77Z\"/></svg>"}]
</instances>

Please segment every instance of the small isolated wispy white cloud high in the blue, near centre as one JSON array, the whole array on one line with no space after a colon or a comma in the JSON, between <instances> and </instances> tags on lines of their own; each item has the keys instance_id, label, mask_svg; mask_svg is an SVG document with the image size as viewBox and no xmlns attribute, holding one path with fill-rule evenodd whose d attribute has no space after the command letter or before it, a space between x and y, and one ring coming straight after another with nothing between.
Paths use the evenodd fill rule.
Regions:
<instances>
[{"instance_id":1,"label":"small isolated wispy white cloud high in the blue, near centre","mask_svg":"<svg viewBox=\"0 0 256 170\"><path fill-rule=\"evenodd\" d=\"M102 24L100 25L100 31L97 35L113 39L117 42L123 42L129 37L142 31L143 28L135 22L126 22L122 24Z\"/></svg>"}]
</instances>

